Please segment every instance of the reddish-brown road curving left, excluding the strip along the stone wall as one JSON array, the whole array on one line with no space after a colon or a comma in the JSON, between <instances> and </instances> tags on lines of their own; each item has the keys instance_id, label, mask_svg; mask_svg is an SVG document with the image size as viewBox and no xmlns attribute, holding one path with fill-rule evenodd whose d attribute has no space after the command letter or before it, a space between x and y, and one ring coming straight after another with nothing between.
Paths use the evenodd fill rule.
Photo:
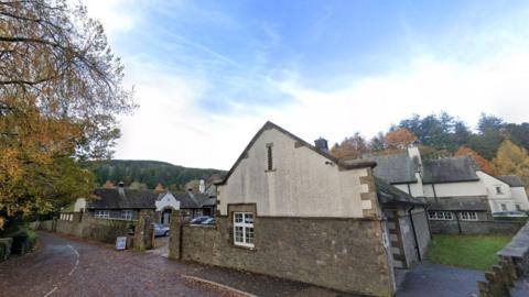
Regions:
<instances>
[{"instance_id":1,"label":"reddish-brown road curving left, excluding the strip along the stone wall","mask_svg":"<svg viewBox=\"0 0 529 297\"><path fill-rule=\"evenodd\" d=\"M237 296L183 277L199 270L145 253L114 251L39 233L40 249L0 264L0 295L24 296Z\"/></svg>"}]
</instances>

